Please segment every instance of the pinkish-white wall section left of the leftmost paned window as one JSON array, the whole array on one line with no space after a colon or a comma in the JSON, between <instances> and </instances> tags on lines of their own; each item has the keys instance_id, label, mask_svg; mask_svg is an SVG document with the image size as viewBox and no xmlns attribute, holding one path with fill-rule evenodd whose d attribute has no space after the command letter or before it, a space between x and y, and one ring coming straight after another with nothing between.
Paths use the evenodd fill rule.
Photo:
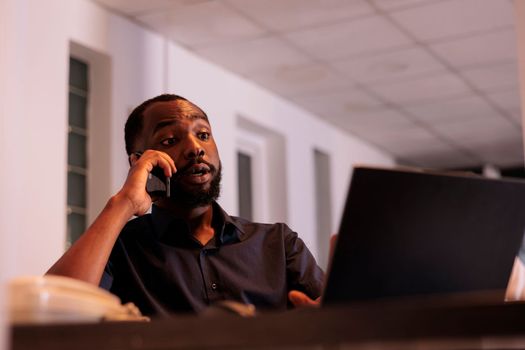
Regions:
<instances>
[{"instance_id":1,"label":"pinkish-white wall section left of the leftmost paned window","mask_svg":"<svg viewBox=\"0 0 525 350\"><path fill-rule=\"evenodd\" d=\"M8 1L0 150L6 277L42 273L64 246L67 24L54 15L62 4Z\"/></svg>"}]
</instances>

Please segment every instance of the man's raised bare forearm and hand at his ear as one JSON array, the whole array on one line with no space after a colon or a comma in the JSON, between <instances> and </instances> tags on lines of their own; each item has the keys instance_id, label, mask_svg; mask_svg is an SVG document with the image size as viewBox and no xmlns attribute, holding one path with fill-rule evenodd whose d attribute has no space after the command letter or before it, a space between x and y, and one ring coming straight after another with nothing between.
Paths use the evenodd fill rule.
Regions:
<instances>
[{"instance_id":1,"label":"man's raised bare forearm and hand at his ear","mask_svg":"<svg viewBox=\"0 0 525 350\"><path fill-rule=\"evenodd\" d=\"M173 160L163 152L150 150L140 159L132 155L130 160L132 167L122 189L110 198L93 224L46 274L100 283L120 231L130 217L144 215L151 206L151 197L146 192L148 174L155 166L161 167L169 177L176 172Z\"/></svg>"}]
</instances>

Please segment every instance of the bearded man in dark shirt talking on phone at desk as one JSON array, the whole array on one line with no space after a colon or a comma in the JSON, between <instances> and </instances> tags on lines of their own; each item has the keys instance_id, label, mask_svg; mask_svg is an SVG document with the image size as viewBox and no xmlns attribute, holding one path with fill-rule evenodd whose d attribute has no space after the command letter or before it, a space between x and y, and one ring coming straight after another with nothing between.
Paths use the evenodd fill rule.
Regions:
<instances>
[{"instance_id":1,"label":"bearded man in dark shirt talking on phone at desk","mask_svg":"<svg viewBox=\"0 0 525 350\"><path fill-rule=\"evenodd\" d=\"M297 234L230 217L216 203L221 162L199 107L157 96L131 113L125 138L124 186L49 274L100 284L147 315L200 312L223 300L272 310L316 304L323 273ZM171 178L171 195L146 214L154 167Z\"/></svg>"}]
</instances>

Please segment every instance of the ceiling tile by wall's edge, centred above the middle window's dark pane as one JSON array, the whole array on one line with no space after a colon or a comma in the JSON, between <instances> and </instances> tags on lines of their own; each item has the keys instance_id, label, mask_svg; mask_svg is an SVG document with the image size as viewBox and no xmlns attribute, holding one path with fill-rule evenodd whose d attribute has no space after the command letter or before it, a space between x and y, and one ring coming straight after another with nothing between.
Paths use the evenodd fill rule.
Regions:
<instances>
[{"instance_id":1,"label":"ceiling tile by wall's edge, centred above the middle window's dark pane","mask_svg":"<svg viewBox=\"0 0 525 350\"><path fill-rule=\"evenodd\" d=\"M246 40L195 51L198 55L241 75L277 71L311 62L308 57L276 37ZM269 52L271 55L268 55Z\"/></svg>"}]
</instances>

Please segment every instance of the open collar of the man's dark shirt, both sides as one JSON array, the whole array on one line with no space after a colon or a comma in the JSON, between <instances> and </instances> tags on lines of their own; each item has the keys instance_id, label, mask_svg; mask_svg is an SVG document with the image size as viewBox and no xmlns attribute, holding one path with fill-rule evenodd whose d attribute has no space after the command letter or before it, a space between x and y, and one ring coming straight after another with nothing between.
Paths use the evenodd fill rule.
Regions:
<instances>
[{"instance_id":1,"label":"open collar of the man's dark shirt, both sides","mask_svg":"<svg viewBox=\"0 0 525 350\"><path fill-rule=\"evenodd\" d=\"M217 202L213 202L212 206L212 225L216 230L215 234L216 237L219 238L219 241L223 244L242 241L245 236L242 226L235 222ZM160 239L172 225L177 225L181 228L186 227L186 233L189 234L190 232L184 220L174 217L169 211L159 208L156 205L153 205L151 208L151 219L155 228L154 234L157 239Z\"/></svg>"}]
</instances>

